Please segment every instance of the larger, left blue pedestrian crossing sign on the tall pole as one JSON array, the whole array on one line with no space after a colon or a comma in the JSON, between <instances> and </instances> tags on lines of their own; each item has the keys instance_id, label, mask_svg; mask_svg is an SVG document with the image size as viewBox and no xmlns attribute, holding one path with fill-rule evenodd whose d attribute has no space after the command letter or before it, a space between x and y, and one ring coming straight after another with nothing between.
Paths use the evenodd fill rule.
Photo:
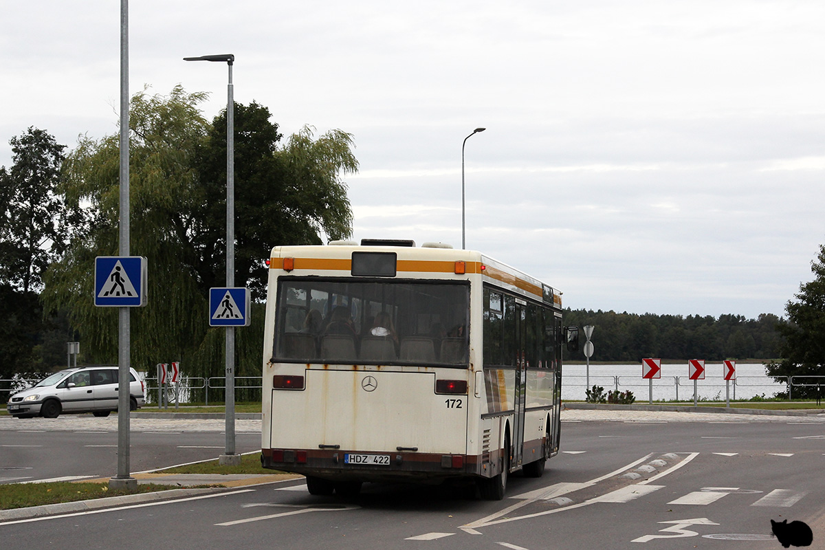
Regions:
<instances>
[{"instance_id":1,"label":"larger, left blue pedestrian crossing sign on the tall pole","mask_svg":"<svg viewBox=\"0 0 825 550\"><path fill-rule=\"evenodd\" d=\"M146 305L146 258L97 256L95 305L102 308L140 308Z\"/></svg>"}]
</instances>

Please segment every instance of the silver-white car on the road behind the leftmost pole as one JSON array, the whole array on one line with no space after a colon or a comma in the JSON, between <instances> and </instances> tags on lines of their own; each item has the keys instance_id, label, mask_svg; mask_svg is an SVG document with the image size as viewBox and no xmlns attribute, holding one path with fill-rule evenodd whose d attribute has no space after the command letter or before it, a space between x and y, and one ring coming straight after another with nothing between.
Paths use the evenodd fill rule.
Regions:
<instances>
[{"instance_id":1,"label":"silver-white car on the road behind the leftmost pole","mask_svg":"<svg viewBox=\"0 0 825 550\"><path fill-rule=\"evenodd\" d=\"M109 416L111 411L117 411L120 388L117 380L117 365L61 370L13 394L7 410L17 418L57 418L62 412L90 411L94 416ZM134 369L130 369L129 393L131 411L144 406L144 382Z\"/></svg>"}]
</instances>

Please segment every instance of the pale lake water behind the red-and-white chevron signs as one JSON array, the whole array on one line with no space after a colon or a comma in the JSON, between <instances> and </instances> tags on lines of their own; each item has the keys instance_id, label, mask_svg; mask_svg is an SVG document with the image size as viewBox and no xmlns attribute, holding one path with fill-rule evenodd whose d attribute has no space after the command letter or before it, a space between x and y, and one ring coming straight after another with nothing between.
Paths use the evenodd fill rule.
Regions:
<instances>
[{"instance_id":1,"label":"pale lake water behind the red-and-white chevron signs","mask_svg":"<svg viewBox=\"0 0 825 550\"><path fill-rule=\"evenodd\" d=\"M562 368L562 399L583 401L587 388L587 365L565 364ZM653 401L669 401L678 398L683 401L693 399L693 380L687 378L687 361L684 364L662 364L662 378L653 380ZM705 363L705 379L697 380L696 390L699 398L709 400L725 399L725 380L722 363ZM773 378L765 375L765 365L737 364L736 383L730 382L730 398L749 399L755 395L765 394L773 397L777 392L785 391L784 383L775 383ZM678 386L676 386L678 380ZM642 378L642 364L591 364L590 387L601 386L605 393L611 389L620 392L629 390L636 397L636 402L648 402L649 382Z\"/></svg>"}]
</instances>

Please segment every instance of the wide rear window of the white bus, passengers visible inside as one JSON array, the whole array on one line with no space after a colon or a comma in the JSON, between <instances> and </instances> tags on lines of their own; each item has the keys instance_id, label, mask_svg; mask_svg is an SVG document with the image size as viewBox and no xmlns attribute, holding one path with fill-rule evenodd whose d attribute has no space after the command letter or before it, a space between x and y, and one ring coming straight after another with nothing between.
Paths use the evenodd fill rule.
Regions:
<instances>
[{"instance_id":1,"label":"wide rear window of the white bus, passengers visible inside","mask_svg":"<svg viewBox=\"0 0 825 550\"><path fill-rule=\"evenodd\" d=\"M466 281L281 277L274 359L466 367L468 319Z\"/></svg>"}]
</instances>

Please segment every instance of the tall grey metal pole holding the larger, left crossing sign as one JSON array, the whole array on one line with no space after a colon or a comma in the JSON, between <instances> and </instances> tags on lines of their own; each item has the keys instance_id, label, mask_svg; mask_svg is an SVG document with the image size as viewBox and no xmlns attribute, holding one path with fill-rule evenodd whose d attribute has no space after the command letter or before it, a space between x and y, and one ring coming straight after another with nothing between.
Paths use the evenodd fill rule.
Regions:
<instances>
[{"instance_id":1,"label":"tall grey metal pole holding the larger, left crossing sign","mask_svg":"<svg viewBox=\"0 0 825 550\"><path fill-rule=\"evenodd\" d=\"M129 0L120 0L120 256L129 256ZM130 476L130 309L118 308L117 475L109 487L135 488Z\"/></svg>"}]
</instances>

